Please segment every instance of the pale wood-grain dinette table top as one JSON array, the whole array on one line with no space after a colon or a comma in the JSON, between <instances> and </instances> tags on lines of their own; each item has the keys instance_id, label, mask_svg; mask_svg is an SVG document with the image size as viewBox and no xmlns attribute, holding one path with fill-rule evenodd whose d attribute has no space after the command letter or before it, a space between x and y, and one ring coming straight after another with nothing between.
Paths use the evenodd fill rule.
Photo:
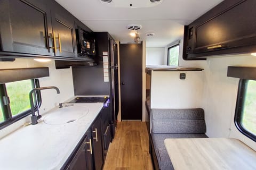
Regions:
<instances>
[{"instance_id":1,"label":"pale wood-grain dinette table top","mask_svg":"<svg viewBox=\"0 0 256 170\"><path fill-rule=\"evenodd\" d=\"M165 139L175 170L256 169L256 152L233 138Z\"/></svg>"}]
</instances>

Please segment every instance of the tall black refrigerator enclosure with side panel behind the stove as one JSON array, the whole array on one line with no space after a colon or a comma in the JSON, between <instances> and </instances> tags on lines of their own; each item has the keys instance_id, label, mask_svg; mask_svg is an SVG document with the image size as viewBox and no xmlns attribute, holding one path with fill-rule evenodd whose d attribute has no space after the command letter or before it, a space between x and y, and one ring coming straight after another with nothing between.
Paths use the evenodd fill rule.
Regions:
<instances>
[{"instance_id":1,"label":"tall black refrigerator enclosure with side panel behind the stove","mask_svg":"<svg viewBox=\"0 0 256 170\"><path fill-rule=\"evenodd\" d=\"M119 111L118 47L108 32L94 32L94 36L98 65L72 67L74 94L109 96L110 105L102 115L102 130L110 125L113 140Z\"/></svg>"}]
</instances>

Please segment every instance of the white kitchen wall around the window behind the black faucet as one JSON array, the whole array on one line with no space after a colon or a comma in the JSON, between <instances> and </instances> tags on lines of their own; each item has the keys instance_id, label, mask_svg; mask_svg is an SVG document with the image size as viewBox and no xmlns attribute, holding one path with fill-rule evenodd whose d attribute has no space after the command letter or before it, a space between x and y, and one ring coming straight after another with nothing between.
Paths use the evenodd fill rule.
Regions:
<instances>
[{"instance_id":1,"label":"white kitchen wall around the window behind the black faucet","mask_svg":"<svg viewBox=\"0 0 256 170\"><path fill-rule=\"evenodd\" d=\"M60 94L54 89L42 90L42 105L39 109L40 114L44 114L59 103L68 100L74 96L73 78L71 69L55 69L54 61L47 63L39 63L31 59L16 59L14 62L0 62L1 69L15 69L15 68L26 68L26 67L49 67L50 77L39 78L41 87L45 86L56 86L60 89ZM0 138L4 135L18 129L22 124L30 122L29 116L23 118L21 121L15 122L1 130Z\"/></svg>"}]
</instances>

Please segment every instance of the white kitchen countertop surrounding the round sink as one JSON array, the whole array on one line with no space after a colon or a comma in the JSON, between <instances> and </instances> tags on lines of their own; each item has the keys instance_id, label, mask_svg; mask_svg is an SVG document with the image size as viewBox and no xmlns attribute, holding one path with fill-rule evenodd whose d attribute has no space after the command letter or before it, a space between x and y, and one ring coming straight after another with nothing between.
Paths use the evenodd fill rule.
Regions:
<instances>
[{"instance_id":1,"label":"white kitchen countertop surrounding the round sink","mask_svg":"<svg viewBox=\"0 0 256 170\"><path fill-rule=\"evenodd\" d=\"M103 103L79 103L87 115L77 121L49 125L44 118L36 125L22 127L0 140L0 169L60 169L90 128ZM72 107L72 106L70 106Z\"/></svg>"}]
</instances>

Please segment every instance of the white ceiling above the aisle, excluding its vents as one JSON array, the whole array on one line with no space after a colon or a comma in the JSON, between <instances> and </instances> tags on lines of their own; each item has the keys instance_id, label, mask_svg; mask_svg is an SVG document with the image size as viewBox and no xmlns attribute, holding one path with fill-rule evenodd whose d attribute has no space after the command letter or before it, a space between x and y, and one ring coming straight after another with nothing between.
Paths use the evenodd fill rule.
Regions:
<instances>
[{"instance_id":1,"label":"white ceiling above the aisle, excluding its vents","mask_svg":"<svg viewBox=\"0 0 256 170\"><path fill-rule=\"evenodd\" d=\"M147 47L165 47L183 37L183 25L191 23L222 0L163 0L161 4L147 8L110 7L100 0L55 1L91 30L107 31L121 43L134 42L126 26L139 24L142 25L138 31L140 40L146 41ZM147 37L145 33L148 32L154 32L155 36Z\"/></svg>"}]
</instances>

